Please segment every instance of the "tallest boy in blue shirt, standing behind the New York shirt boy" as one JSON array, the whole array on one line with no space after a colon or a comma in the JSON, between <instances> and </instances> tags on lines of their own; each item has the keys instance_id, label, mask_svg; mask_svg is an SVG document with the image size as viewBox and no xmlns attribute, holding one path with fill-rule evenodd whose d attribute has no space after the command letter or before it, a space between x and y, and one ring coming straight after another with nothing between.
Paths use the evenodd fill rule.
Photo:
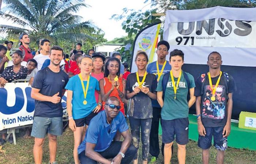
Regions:
<instances>
[{"instance_id":1,"label":"tallest boy in blue shirt, standing behind the New York shirt boy","mask_svg":"<svg viewBox=\"0 0 256 164\"><path fill-rule=\"evenodd\" d=\"M148 64L147 73L155 74L157 76L157 82L162 74L165 74L171 70L169 62L166 60L166 55L168 55L170 45L165 40L158 42L157 44L157 61ZM153 119L150 130L150 148L149 153L152 155L151 164L157 162L157 157L160 153L159 150L159 140L158 140L158 128L159 119L161 118L161 106L158 104L157 100L152 100L153 107ZM162 144L162 154L163 154Z\"/></svg>"}]
</instances>

